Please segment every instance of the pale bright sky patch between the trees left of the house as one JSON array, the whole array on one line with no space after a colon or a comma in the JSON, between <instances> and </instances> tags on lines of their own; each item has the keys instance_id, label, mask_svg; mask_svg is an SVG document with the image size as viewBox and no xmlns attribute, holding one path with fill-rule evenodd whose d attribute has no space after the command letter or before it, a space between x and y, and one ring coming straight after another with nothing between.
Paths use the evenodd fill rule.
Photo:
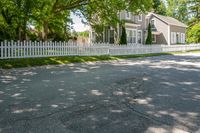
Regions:
<instances>
[{"instance_id":1,"label":"pale bright sky patch between the trees left of the house","mask_svg":"<svg viewBox=\"0 0 200 133\"><path fill-rule=\"evenodd\" d=\"M80 18L79 16L76 16L73 13L71 14L71 18L74 23L72 26L75 31L81 32L89 29L88 25L85 25L81 22L83 18Z\"/></svg>"}]
</instances>

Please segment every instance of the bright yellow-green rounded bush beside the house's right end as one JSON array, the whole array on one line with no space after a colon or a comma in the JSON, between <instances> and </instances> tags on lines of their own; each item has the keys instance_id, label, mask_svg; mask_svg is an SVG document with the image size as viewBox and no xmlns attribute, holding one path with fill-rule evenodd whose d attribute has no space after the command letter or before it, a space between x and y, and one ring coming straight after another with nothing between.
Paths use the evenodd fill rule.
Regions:
<instances>
[{"instance_id":1,"label":"bright yellow-green rounded bush beside the house's right end","mask_svg":"<svg viewBox=\"0 0 200 133\"><path fill-rule=\"evenodd\" d=\"M195 24L187 31L188 43L200 43L200 23Z\"/></svg>"}]
</instances>

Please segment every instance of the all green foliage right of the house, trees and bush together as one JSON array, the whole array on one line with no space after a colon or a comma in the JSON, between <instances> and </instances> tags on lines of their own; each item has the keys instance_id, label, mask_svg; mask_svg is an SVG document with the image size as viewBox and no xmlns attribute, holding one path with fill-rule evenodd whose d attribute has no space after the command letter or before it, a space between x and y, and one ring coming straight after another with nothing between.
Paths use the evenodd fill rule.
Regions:
<instances>
[{"instance_id":1,"label":"all green foliage right of the house, trees and bush together","mask_svg":"<svg viewBox=\"0 0 200 133\"><path fill-rule=\"evenodd\" d=\"M167 0L167 15L187 23L187 42L199 42L200 1Z\"/></svg>"}]
</instances>

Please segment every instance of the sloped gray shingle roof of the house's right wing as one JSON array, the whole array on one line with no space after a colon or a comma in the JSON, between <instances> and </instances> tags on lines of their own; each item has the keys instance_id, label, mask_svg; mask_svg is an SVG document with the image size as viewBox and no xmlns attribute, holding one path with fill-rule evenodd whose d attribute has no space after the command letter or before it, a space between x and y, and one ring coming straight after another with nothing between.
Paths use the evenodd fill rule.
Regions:
<instances>
[{"instance_id":1,"label":"sloped gray shingle roof of the house's right wing","mask_svg":"<svg viewBox=\"0 0 200 133\"><path fill-rule=\"evenodd\" d=\"M158 15L158 14L155 14L155 13L150 13L148 16L155 16L157 17L158 19L164 21L165 23L167 23L168 25L174 25L174 26L180 26L180 27L188 27L186 24L178 21L177 19L175 18L172 18L172 17L168 17L168 16L162 16L162 15Z\"/></svg>"}]
</instances>

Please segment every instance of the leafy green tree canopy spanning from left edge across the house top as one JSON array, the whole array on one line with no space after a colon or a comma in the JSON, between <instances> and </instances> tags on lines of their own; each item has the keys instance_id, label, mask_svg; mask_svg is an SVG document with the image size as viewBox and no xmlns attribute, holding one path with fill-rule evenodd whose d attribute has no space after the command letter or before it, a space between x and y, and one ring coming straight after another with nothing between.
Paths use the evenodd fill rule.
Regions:
<instances>
[{"instance_id":1,"label":"leafy green tree canopy spanning from left edge across the house top","mask_svg":"<svg viewBox=\"0 0 200 133\"><path fill-rule=\"evenodd\" d=\"M115 27L118 11L140 12L150 8L151 0L1 0L0 39L34 40L35 35L43 40L65 39L69 35L70 12L82 13L92 26ZM35 33L29 33L30 26Z\"/></svg>"}]
</instances>

